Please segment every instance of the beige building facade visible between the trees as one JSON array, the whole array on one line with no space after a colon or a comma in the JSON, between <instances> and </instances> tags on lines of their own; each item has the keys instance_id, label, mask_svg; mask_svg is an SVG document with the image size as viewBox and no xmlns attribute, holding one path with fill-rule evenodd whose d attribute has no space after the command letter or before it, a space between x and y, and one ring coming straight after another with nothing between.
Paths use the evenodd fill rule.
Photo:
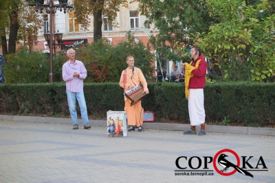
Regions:
<instances>
[{"instance_id":1,"label":"beige building facade visible between the trees","mask_svg":"<svg viewBox=\"0 0 275 183\"><path fill-rule=\"evenodd\" d=\"M56 1L55 3L58 3ZM116 44L117 42L120 42L122 40L126 40L126 32L129 32L131 30L131 18L130 18L130 11L136 11L138 8L138 3L131 3L129 5L129 9L124 8L122 5L120 5L120 11L117 12L118 16L116 18L116 21L118 22L118 27L113 27L113 30L111 31L104 31L104 25L102 25L102 37L108 38L113 42L113 44ZM64 12L60 12L59 10L56 11L56 14L54 14L54 30L53 32L61 32L63 33L63 40L74 40L74 39L87 39L88 42L94 41L94 17L90 16L90 26L87 31L84 31L83 29L79 29L78 32L69 32L69 11L67 11L66 14ZM43 16L41 16L41 19L43 19ZM144 27L144 21L146 20L146 16L140 15L140 12L138 13L138 24L139 27ZM48 15L48 21L50 23L50 17ZM150 31L150 30L149 30ZM44 27L39 31L38 33L38 45L33 47L33 50L35 49L49 49L45 46L47 42L45 42L45 38L43 36L44 34ZM134 34L134 36L137 36L138 38L142 39L142 42L145 44L148 42L148 32L144 32L142 30L137 30ZM56 49L56 51L59 51L60 49Z\"/></svg>"}]
</instances>

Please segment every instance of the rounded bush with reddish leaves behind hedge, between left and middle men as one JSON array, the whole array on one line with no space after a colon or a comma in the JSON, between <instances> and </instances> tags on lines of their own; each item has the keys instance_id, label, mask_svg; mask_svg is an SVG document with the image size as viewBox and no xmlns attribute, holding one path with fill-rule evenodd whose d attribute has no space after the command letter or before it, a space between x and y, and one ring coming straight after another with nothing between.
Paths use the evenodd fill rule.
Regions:
<instances>
[{"instance_id":1,"label":"rounded bush with reddish leaves behind hedge, between left and middle men","mask_svg":"<svg viewBox=\"0 0 275 183\"><path fill-rule=\"evenodd\" d=\"M105 39L92 42L85 49L79 49L76 58L82 60L86 66L86 82L118 82L122 71L127 67L126 57L129 55L135 58L135 66L150 79L154 56L141 41L135 42L133 37L119 42L118 45L111 45Z\"/></svg>"}]
</instances>

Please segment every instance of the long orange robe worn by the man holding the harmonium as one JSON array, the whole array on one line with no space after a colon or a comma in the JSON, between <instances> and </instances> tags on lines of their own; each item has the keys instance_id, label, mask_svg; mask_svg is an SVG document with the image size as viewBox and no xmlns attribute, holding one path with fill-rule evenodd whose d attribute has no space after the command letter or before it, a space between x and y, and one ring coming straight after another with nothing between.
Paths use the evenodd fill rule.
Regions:
<instances>
[{"instance_id":1,"label":"long orange robe worn by the man holding the harmonium","mask_svg":"<svg viewBox=\"0 0 275 183\"><path fill-rule=\"evenodd\" d=\"M123 71L120 76L120 86L124 88L124 80L123 80ZM129 90L129 85L136 86L137 84L142 83L142 86L144 90L147 90L147 82L145 80L145 77L140 69L135 67L135 72L132 77L132 69L127 68L126 69L126 82L125 82L125 92ZM135 103L133 106L130 105L129 101L126 97L124 97L125 106L124 110L127 114L127 121L128 125L136 125L137 127L141 126L143 124L143 108L142 108L142 102L139 101Z\"/></svg>"}]
</instances>

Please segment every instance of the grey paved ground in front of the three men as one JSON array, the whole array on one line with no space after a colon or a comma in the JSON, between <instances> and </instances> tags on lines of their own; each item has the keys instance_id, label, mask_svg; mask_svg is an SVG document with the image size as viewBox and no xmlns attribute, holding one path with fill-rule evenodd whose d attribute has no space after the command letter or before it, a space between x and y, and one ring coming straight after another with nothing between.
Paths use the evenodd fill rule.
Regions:
<instances>
[{"instance_id":1,"label":"grey paved ground in front of the three men","mask_svg":"<svg viewBox=\"0 0 275 183\"><path fill-rule=\"evenodd\" d=\"M107 127L72 130L65 123L0 121L0 182L275 182L275 136L210 133L184 136L180 131L147 130L128 132L126 137L107 137ZM259 164L262 156L268 171L250 171L254 178L234 173L214 175L175 175L179 156L214 156L232 149L241 156L254 156L248 162ZM228 160L236 158L226 152ZM233 156L233 157L232 157ZM193 158L192 167L199 167ZM248 158L246 160L248 160ZM208 159L209 161L209 159ZM181 158L181 167L188 161ZM218 169L222 167L217 164ZM248 165L246 165L248 168ZM259 169L263 170L259 164ZM192 170L190 167L187 170ZM228 173L233 169L230 167ZM182 173L182 172L178 172Z\"/></svg>"}]
</instances>

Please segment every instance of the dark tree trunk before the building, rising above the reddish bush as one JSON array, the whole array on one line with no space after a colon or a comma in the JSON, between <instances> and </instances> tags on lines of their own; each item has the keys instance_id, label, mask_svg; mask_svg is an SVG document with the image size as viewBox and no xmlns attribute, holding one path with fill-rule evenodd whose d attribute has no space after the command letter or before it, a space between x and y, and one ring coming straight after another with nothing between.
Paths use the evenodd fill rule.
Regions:
<instances>
[{"instance_id":1,"label":"dark tree trunk before the building, rising above the reddish bush","mask_svg":"<svg viewBox=\"0 0 275 183\"><path fill-rule=\"evenodd\" d=\"M91 4L94 5L96 3L97 7L95 8L94 14L94 42L100 40L102 38L102 7L104 4L104 0L91 0Z\"/></svg>"}]
</instances>

